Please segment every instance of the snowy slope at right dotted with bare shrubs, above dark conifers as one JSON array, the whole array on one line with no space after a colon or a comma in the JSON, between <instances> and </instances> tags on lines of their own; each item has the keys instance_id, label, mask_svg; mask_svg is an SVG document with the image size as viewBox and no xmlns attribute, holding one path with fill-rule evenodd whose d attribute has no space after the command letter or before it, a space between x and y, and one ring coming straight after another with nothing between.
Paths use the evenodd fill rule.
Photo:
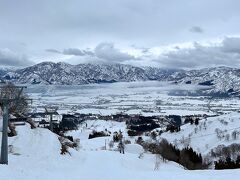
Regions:
<instances>
[{"instance_id":1,"label":"snowy slope at right dotted with bare shrubs, above dark conifers","mask_svg":"<svg viewBox=\"0 0 240 180\"><path fill-rule=\"evenodd\" d=\"M180 149L190 146L207 157L210 156L211 150L219 145L240 144L239 134L240 113L232 112L203 119L199 122L199 125L185 124L181 126L180 132L166 132L161 134L161 138L166 138Z\"/></svg>"}]
</instances>

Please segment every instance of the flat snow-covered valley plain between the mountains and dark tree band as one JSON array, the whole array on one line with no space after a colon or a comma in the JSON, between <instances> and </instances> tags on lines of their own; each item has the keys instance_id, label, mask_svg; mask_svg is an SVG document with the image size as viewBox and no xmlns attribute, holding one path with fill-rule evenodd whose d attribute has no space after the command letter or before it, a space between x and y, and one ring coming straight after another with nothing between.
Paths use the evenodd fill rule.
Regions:
<instances>
[{"instance_id":1,"label":"flat snow-covered valley plain between the mountains and dark tree band","mask_svg":"<svg viewBox=\"0 0 240 180\"><path fill-rule=\"evenodd\" d=\"M200 89L206 87L150 81L79 86L30 85L27 91L33 98L33 109L55 105L60 113L188 115L230 112L240 108L237 99L188 96Z\"/></svg>"}]
</instances>

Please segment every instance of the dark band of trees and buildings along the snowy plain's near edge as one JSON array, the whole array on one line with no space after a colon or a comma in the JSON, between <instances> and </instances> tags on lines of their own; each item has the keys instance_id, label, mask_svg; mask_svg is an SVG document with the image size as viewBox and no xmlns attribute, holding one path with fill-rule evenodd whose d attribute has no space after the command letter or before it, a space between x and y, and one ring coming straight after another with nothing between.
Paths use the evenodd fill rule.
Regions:
<instances>
[{"instance_id":1,"label":"dark band of trees and buildings along the snowy plain's near edge","mask_svg":"<svg viewBox=\"0 0 240 180\"><path fill-rule=\"evenodd\" d=\"M45 107L42 111L29 113L26 117L12 117L9 119L9 126L21 126L26 123L32 123L35 127L48 128L49 130L59 133L71 130L77 130L79 126L83 126L85 121L116 121L125 122L129 129L134 129L138 133L151 131L155 128L165 128L165 131L175 131L181 125L191 121L199 121L211 117L206 114L199 115L154 115L144 116L141 114L125 114L118 113L112 115L101 114L81 114L69 113L59 114L57 107ZM136 128L137 127L137 128ZM11 128L13 129L13 128ZM163 129L164 130L164 129Z\"/></svg>"}]
</instances>

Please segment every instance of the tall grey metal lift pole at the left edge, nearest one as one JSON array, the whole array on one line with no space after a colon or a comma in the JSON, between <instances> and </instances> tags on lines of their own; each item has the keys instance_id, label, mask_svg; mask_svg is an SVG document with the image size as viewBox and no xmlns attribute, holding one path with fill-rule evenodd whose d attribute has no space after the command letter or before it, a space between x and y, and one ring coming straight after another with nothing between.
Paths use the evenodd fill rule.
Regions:
<instances>
[{"instance_id":1,"label":"tall grey metal lift pole at the left edge, nearest one","mask_svg":"<svg viewBox=\"0 0 240 180\"><path fill-rule=\"evenodd\" d=\"M7 87L0 87L1 89ZM2 146L1 146L1 158L0 164L8 164L8 123L9 123L9 105L12 102L18 103L20 101L20 95L22 94L23 88L21 86L13 86L13 89L20 89L16 97L9 96L9 92L3 93L3 97L0 98L0 102L3 107L3 126L2 126ZM10 92L11 93L11 92ZM12 95L12 94L11 94Z\"/></svg>"}]
</instances>

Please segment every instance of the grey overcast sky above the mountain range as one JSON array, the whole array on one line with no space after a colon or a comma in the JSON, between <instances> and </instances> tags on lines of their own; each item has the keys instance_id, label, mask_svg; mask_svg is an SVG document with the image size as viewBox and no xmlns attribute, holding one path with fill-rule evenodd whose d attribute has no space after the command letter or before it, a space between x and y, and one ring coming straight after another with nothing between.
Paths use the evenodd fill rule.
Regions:
<instances>
[{"instance_id":1,"label":"grey overcast sky above the mountain range","mask_svg":"<svg viewBox=\"0 0 240 180\"><path fill-rule=\"evenodd\" d=\"M0 0L0 65L240 68L239 0Z\"/></svg>"}]
</instances>

